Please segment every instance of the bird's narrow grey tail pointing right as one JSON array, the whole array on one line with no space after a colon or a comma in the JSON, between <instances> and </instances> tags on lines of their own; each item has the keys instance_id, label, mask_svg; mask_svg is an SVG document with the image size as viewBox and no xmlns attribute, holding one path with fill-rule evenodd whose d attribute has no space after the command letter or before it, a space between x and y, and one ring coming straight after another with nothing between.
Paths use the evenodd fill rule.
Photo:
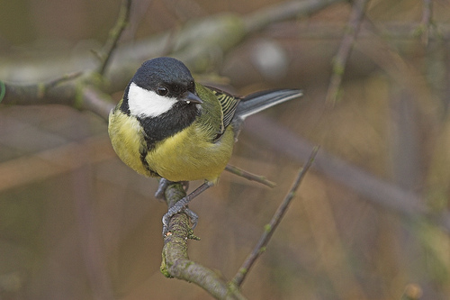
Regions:
<instances>
[{"instance_id":1,"label":"bird's narrow grey tail pointing right","mask_svg":"<svg viewBox=\"0 0 450 300\"><path fill-rule=\"evenodd\" d=\"M241 121L244 121L251 114L257 114L266 108L293 100L302 95L303 93L299 89L276 89L250 94L240 100L236 108L236 115Z\"/></svg>"}]
</instances>

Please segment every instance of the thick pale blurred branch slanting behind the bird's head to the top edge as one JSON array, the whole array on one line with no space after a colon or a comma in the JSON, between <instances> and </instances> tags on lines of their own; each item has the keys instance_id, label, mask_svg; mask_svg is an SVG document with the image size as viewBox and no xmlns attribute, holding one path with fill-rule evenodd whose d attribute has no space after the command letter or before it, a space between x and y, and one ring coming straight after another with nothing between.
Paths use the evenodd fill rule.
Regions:
<instances>
[{"instance_id":1,"label":"thick pale blurred branch slanting behind the bird's head to the top edge","mask_svg":"<svg viewBox=\"0 0 450 300\"><path fill-rule=\"evenodd\" d=\"M109 62L108 72L104 74L103 92L112 93L121 90L130 81L142 61L166 53L167 41L173 44L172 51L166 53L182 59L188 68L202 72L216 67L220 55L211 57L212 53L227 51L234 48L245 37L254 34L275 22L301 18L319 12L328 5L334 5L342 0L309 0L305 2L291 1L281 3L279 10L286 14L269 14L276 6L269 9L262 8L247 15L218 14L201 20L193 20L174 34L172 31L162 32L141 41L123 44L115 48L114 55ZM301 4L301 5L299 5ZM275 10L276 12L277 10ZM289 14L288 14L289 13ZM236 35L236 36L234 36ZM226 42L225 42L226 41ZM197 44L197 45L195 45ZM211 65L206 63L211 61ZM4 81L39 82L42 78L59 77L60 74L83 70L92 72L97 64L90 52L86 52L73 59L56 59L49 65L46 60L34 61L30 64L18 66L15 61L0 64L0 78ZM15 77L20 74L20 77Z\"/></svg>"}]
</instances>

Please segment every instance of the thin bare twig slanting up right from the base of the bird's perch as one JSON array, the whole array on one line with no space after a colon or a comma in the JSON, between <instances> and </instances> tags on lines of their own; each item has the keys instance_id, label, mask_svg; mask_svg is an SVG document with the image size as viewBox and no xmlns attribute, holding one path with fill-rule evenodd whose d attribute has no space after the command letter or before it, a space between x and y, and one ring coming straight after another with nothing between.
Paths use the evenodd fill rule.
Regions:
<instances>
[{"instance_id":1,"label":"thin bare twig slanting up right from the base of the bird's perch","mask_svg":"<svg viewBox=\"0 0 450 300\"><path fill-rule=\"evenodd\" d=\"M269 242L270 238L275 232L275 229L278 227L278 224L283 219L284 214L287 211L288 206L291 204L291 201L293 200L293 196L297 192L297 189L299 188L300 184L302 183L303 177L305 177L306 173L308 172L308 169L311 167L312 162L314 161L317 152L319 151L320 146L314 147L314 149L311 152L310 158L306 161L306 164L304 167L300 170L299 175L295 179L293 183L293 187L289 191L289 193L284 197L283 203L278 207L276 210L274 216L272 217L272 220L270 220L270 223L266 224L265 226L265 232L257 242L257 245L255 246L254 250L247 256L247 259L244 261L242 266L239 268L238 273L236 276L231 280L231 283L235 286L241 286L242 282L246 278L248 271L253 266L253 264L257 261L257 258L259 255L261 255L265 248L267 243Z\"/></svg>"}]
</instances>

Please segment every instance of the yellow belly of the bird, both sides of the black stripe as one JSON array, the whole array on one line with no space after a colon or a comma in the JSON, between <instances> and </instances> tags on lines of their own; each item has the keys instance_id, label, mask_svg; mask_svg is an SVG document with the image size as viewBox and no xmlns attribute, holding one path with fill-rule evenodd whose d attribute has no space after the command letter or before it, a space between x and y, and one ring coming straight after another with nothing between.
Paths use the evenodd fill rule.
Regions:
<instances>
[{"instance_id":1,"label":"yellow belly of the bird, both sides of the black stripe","mask_svg":"<svg viewBox=\"0 0 450 300\"><path fill-rule=\"evenodd\" d=\"M139 174L151 177L140 159L139 148L146 143L139 121L116 111L110 115L108 131L112 147L121 160ZM215 183L231 157L234 135L229 127L220 141L211 143L208 142L210 134L193 124L158 142L148 151L149 168L170 181L206 179Z\"/></svg>"}]
</instances>

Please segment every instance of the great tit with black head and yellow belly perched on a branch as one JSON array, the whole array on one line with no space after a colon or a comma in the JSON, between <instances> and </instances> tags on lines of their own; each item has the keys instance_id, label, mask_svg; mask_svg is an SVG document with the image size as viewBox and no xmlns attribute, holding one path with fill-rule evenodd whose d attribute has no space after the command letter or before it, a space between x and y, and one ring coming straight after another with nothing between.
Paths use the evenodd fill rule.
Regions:
<instances>
[{"instance_id":1,"label":"great tit with black head and yellow belly perched on a branch","mask_svg":"<svg viewBox=\"0 0 450 300\"><path fill-rule=\"evenodd\" d=\"M244 119L301 95L297 89L229 95L195 83L180 60L150 59L112 109L108 132L117 155L139 174L172 182L205 180L168 210L164 234L174 214L217 183ZM195 225L195 214L191 216Z\"/></svg>"}]
</instances>

